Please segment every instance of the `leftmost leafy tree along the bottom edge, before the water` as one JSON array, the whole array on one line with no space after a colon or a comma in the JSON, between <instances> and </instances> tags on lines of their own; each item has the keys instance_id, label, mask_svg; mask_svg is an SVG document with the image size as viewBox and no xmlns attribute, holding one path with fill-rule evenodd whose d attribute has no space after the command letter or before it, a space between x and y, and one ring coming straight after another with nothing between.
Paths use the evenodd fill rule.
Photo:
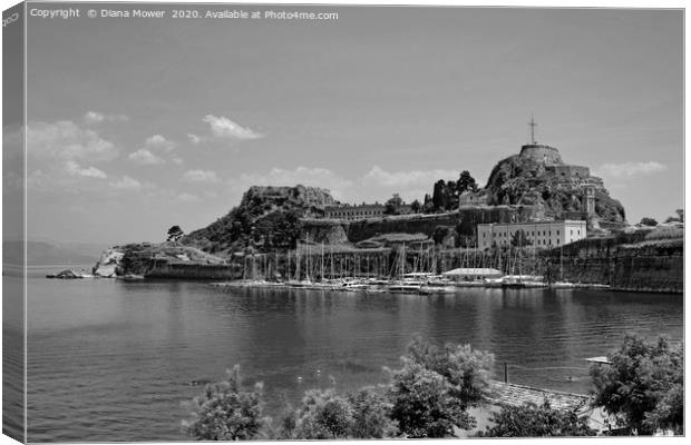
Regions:
<instances>
[{"instance_id":1,"label":"leftmost leafy tree along the bottom edge, before the water","mask_svg":"<svg viewBox=\"0 0 691 445\"><path fill-rule=\"evenodd\" d=\"M192 400L192 418L183 421L188 435L201 441L250 439L266 424L262 417L262 384L246 390L237 365L226 373L226 380L206 385L204 393Z\"/></svg>"}]
</instances>

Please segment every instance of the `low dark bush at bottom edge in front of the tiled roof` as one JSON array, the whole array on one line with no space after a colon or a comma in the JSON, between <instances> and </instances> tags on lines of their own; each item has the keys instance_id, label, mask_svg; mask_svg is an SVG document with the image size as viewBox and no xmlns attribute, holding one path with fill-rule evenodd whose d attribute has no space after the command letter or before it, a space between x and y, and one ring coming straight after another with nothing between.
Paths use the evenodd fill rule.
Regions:
<instances>
[{"instance_id":1,"label":"low dark bush at bottom edge in front of the tiled roof","mask_svg":"<svg viewBox=\"0 0 691 445\"><path fill-rule=\"evenodd\" d=\"M549 402L537 406L503 406L498 413L493 413L490 422L494 424L479 437L544 437L544 436L594 436L595 429L587 425L587 417L578 417L574 412L554 409Z\"/></svg>"}]
</instances>

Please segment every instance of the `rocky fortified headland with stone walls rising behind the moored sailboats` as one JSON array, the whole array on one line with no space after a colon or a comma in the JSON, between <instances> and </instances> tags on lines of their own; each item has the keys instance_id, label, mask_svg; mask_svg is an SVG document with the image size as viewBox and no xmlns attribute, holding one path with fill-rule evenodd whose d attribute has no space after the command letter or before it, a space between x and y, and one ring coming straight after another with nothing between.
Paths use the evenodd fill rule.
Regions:
<instances>
[{"instance_id":1,"label":"rocky fortified headland with stone walls rising behind the moored sailboats","mask_svg":"<svg viewBox=\"0 0 691 445\"><path fill-rule=\"evenodd\" d=\"M257 260L265 267L273 264L269 268L278 274L290 268L291 256L317 251L340 254L338 264L348 264L349 256L361 253L368 264L383 261L391 267L401 245L408 246L408 255L445 256L448 263L434 266L442 268L454 264L455 256L457 261L463 256L478 263L480 256L485 261L495 254L500 258L499 253L474 249L478 224L586 219L588 239L542 251L541 260L533 261L539 265L538 273L553 276L558 263L564 279L581 283L629 290L680 291L683 287L683 230L666 230L660 237L627 226L623 206L610 196L603 180L591 176L587 167L565 164L554 147L523 146L520 154L497 162L485 188L468 190L457 200L458 207L450 211L344 220L324 217L328 206L339 205L329 190L301 185L251 187L236 207L208 226L175 241L114 247L104 253L94 271L232 279L253 276ZM655 275L659 270L663 273Z\"/></svg>"}]
</instances>

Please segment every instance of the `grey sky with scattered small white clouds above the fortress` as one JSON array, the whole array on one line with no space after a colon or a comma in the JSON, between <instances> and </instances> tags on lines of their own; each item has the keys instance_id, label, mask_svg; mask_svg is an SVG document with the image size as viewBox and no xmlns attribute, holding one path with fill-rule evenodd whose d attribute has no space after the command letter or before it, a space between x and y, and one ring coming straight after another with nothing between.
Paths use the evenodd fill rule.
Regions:
<instances>
[{"instance_id":1,"label":"grey sky with scattered small white clouds above the fortress","mask_svg":"<svg viewBox=\"0 0 691 445\"><path fill-rule=\"evenodd\" d=\"M159 241L252 185L348 202L421 200L461 170L484 186L532 116L630 222L683 207L679 10L194 9L338 20L29 17L29 239Z\"/></svg>"}]
</instances>

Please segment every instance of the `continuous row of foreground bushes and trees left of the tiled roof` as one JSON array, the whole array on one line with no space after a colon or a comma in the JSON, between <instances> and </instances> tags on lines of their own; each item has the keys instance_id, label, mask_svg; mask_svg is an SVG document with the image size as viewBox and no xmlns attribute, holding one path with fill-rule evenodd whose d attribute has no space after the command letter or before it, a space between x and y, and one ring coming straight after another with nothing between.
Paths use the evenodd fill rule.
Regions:
<instances>
[{"instance_id":1,"label":"continuous row of foreground bushes and trees left of the tiled roof","mask_svg":"<svg viewBox=\"0 0 691 445\"><path fill-rule=\"evenodd\" d=\"M198 439L235 441L447 437L476 425L468 408L488 387L492 354L415 337L401 363L389 370L391 383L383 387L344 395L333 388L308 390L301 405L286 407L275 424L263 415L261 384L244 388L236 366L193 400L183 426Z\"/></svg>"}]
</instances>

